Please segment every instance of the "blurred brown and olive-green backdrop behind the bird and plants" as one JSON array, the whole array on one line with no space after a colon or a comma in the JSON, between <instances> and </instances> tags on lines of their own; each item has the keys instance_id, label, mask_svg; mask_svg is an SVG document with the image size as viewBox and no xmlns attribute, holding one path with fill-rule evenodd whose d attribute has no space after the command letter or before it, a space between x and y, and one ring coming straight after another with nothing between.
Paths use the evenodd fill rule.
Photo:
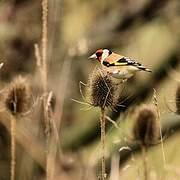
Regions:
<instances>
[{"instance_id":1,"label":"blurred brown and olive-green backdrop behind the bird and plants","mask_svg":"<svg viewBox=\"0 0 180 180\"><path fill-rule=\"evenodd\" d=\"M31 84L33 97L40 97L34 44L41 42L40 0L0 1L0 87L16 76ZM109 48L132 57L152 69L138 73L122 88L122 105L108 115L117 124L107 122L106 159L111 180L142 179L142 157L132 136L135 110L140 104L153 103L157 91L158 108L164 132L166 164L161 145L148 151L150 179L180 177L180 118L175 115L176 89L180 81L180 1L179 0L50 0L48 11L48 89L56 99L54 121L58 140L54 142L54 179L98 179L100 159L99 110L82 104L80 81L88 81L98 65L88 57L97 49ZM86 85L82 85L85 95ZM80 102L75 102L73 99ZM3 103L1 105L3 107ZM38 103L35 104L38 107ZM16 177L43 179L46 151L40 111L17 126ZM4 113L0 118L4 123ZM9 179L10 138L7 124L0 127L0 179ZM5 122L6 123L6 122ZM118 127L117 127L118 126ZM132 150L119 149L130 143ZM56 151L56 150L55 150Z\"/></svg>"}]
</instances>

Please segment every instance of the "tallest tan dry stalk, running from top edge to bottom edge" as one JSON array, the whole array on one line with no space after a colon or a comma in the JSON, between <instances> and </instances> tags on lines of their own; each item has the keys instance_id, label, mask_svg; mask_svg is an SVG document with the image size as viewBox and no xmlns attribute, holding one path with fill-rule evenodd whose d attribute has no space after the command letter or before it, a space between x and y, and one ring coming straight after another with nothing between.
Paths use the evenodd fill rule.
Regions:
<instances>
[{"instance_id":1,"label":"tallest tan dry stalk, running from top edge to bottom edge","mask_svg":"<svg viewBox=\"0 0 180 180\"><path fill-rule=\"evenodd\" d=\"M35 46L35 54L37 58L37 65L40 63L40 72L41 79L43 83L43 111L44 111L44 120L45 120L45 135L46 135L46 178L48 180L54 179L54 169L52 169L52 159L51 159L51 150L52 143L52 110L50 110L49 99L52 97L46 96L48 91L48 80L47 80L47 45L48 45L48 0L42 0L42 39L41 39L41 55L39 52L38 46ZM50 93L51 94L51 93Z\"/></svg>"}]
</instances>

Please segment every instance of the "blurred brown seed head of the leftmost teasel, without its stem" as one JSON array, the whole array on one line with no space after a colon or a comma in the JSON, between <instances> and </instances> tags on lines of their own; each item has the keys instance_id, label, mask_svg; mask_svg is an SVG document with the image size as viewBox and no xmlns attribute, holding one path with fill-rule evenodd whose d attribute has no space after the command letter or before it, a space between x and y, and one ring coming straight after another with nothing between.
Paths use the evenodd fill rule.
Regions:
<instances>
[{"instance_id":1,"label":"blurred brown seed head of the leftmost teasel, without its stem","mask_svg":"<svg viewBox=\"0 0 180 180\"><path fill-rule=\"evenodd\" d=\"M30 106L30 88L26 79L21 76L10 83L5 97L6 108L13 114L21 114Z\"/></svg>"}]
</instances>

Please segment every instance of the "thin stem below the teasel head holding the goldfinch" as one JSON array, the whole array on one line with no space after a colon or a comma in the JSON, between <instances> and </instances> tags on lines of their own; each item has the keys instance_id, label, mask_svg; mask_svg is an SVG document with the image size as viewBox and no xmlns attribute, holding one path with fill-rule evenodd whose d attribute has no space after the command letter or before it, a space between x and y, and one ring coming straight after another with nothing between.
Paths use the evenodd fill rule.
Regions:
<instances>
[{"instance_id":1,"label":"thin stem below the teasel head holding the goldfinch","mask_svg":"<svg viewBox=\"0 0 180 180\"><path fill-rule=\"evenodd\" d=\"M105 180L106 178L106 166L105 166L105 108L101 107L101 179Z\"/></svg>"}]
</instances>

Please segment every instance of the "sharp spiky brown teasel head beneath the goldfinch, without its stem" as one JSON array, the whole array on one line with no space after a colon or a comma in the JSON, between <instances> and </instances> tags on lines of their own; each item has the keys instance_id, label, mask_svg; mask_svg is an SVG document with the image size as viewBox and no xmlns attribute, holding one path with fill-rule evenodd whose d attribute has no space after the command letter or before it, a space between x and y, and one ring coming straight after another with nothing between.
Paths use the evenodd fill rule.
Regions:
<instances>
[{"instance_id":1,"label":"sharp spiky brown teasel head beneath the goldfinch, without its stem","mask_svg":"<svg viewBox=\"0 0 180 180\"><path fill-rule=\"evenodd\" d=\"M95 68L89 76L88 101L92 106L113 108L118 102L118 85L102 68Z\"/></svg>"}]
</instances>

